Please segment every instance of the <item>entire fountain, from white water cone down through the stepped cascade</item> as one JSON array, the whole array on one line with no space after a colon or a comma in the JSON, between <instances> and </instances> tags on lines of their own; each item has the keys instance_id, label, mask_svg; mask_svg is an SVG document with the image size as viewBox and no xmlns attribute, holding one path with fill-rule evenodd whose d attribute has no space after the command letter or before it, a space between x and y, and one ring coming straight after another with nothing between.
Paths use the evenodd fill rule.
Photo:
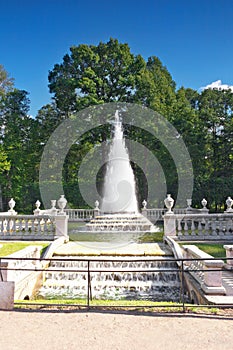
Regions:
<instances>
[{"instance_id":1,"label":"entire fountain, from white water cone down through the stepped cascade","mask_svg":"<svg viewBox=\"0 0 233 350\"><path fill-rule=\"evenodd\" d=\"M113 124L100 210L99 202L95 202L95 211L101 215L93 218L82 231L85 237L93 234L93 240L67 243L69 254L62 252L63 248L56 251L44 272L39 295L85 298L90 288L92 297L99 299L178 301L180 279L171 251L164 245L160 249L158 243L149 243L150 247L136 243L137 236L158 229L139 213L134 174L118 111ZM143 206L146 207L145 201ZM101 242L96 242L97 236L102 237ZM111 237L110 245L106 236ZM71 249L74 246L75 253ZM100 246L102 251L98 252Z\"/></svg>"}]
</instances>

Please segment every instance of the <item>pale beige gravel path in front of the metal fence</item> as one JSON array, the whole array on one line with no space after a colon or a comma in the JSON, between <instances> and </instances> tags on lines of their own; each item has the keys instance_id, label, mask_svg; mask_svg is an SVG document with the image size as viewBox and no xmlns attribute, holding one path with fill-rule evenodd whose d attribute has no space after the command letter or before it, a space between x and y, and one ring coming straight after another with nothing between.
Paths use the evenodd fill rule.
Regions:
<instances>
[{"instance_id":1,"label":"pale beige gravel path in front of the metal fence","mask_svg":"<svg viewBox=\"0 0 233 350\"><path fill-rule=\"evenodd\" d=\"M0 311L2 350L232 350L233 318Z\"/></svg>"}]
</instances>

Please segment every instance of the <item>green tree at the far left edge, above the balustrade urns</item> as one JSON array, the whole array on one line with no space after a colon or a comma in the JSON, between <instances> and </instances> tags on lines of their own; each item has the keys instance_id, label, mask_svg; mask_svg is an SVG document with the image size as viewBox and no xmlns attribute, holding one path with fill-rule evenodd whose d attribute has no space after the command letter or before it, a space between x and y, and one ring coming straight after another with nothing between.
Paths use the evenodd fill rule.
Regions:
<instances>
[{"instance_id":1,"label":"green tree at the far left edge, above the balustrade urns","mask_svg":"<svg viewBox=\"0 0 233 350\"><path fill-rule=\"evenodd\" d=\"M19 201L18 208L26 210L23 201L25 188L34 180L32 125L28 116L29 99L24 90L14 89L1 100L1 147L7 159L1 174L6 201L12 196ZM22 205L22 207L20 207Z\"/></svg>"}]
</instances>

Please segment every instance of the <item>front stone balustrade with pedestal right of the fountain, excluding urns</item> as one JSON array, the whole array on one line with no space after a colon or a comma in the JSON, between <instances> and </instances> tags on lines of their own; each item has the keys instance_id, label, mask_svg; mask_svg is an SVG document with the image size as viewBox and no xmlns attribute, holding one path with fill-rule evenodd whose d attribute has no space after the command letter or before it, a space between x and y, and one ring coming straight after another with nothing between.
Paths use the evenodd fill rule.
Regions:
<instances>
[{"instance_id":1,"label":"front stone balustrade with pedestal right of the fountain, excluding urns","mask_svg":"<svg viewBox=\"0 0 233 350\"><path fill-rule=\"evenodd\" d=\"M179 240L232 240L233 214L165 214L164 234Z\"/></svg>"}]
</instances>

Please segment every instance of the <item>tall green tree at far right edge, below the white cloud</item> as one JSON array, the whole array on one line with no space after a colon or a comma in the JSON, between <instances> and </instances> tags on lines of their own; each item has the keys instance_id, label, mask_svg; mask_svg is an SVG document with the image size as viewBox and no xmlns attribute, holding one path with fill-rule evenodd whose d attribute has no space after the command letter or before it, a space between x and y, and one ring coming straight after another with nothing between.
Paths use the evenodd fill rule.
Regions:
<instances>
[{"instance_id":1,"label":"tall green tree at far right edge, below the white cloud","mask_svg":"<svg viewBox=\"0 0 233 350\"><path fill-rule=\"evenodd\" d=\"M204 90L198 105L205 140L203 186L217 210L223 207L233 186L233 93L230 90Z\"/></svg>"}]
</instances>

